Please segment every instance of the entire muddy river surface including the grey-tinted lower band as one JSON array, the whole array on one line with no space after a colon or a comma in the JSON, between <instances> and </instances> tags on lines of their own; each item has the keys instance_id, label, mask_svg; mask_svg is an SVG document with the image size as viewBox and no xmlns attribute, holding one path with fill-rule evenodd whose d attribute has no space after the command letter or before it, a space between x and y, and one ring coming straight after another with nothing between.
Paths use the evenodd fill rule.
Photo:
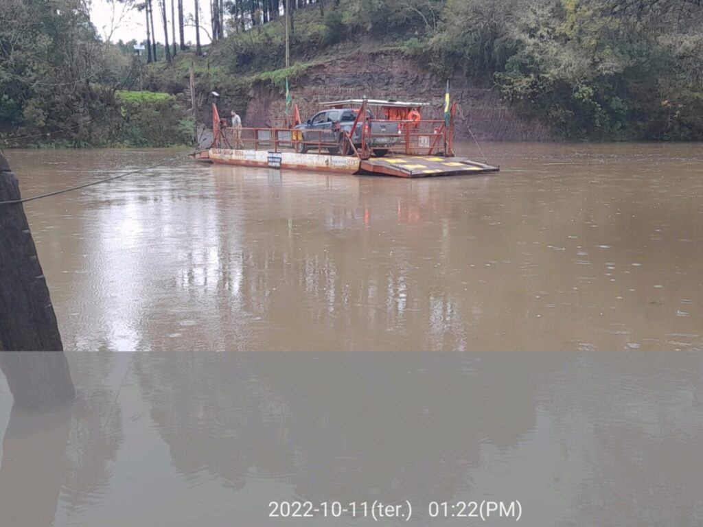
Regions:
<instances>
[{"instance_id":1,"label":"entire muddy river surface including the grey-tinted lower band","mask_svg":"<svg viewBox=\"0 0 703 527\"><path fill-rule=\"evenodd\" d=\"M179 163L28 203L79 396L29 415L0 375L0 525L700 525L700 146L486 150L496 176ZM8 158L26 197L174 154ZM375 500L411 521L269 516ZM483 500L520 523L430 514Z\"/></svg>"}]
</instances>

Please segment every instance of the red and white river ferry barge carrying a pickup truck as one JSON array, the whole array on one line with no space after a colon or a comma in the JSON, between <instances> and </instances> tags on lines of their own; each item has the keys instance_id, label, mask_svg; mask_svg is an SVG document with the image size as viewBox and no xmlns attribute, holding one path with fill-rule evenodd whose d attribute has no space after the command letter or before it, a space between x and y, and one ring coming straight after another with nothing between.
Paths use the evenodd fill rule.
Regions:
<instances>
[{"instance_id":1,"label":"red and white river ferry barge carrying a pickup truck","mask_svg":"<svg viewBox=\"0 0 703 527\"><path fill-rule=\"evenodd\" d=\"M191 158L242 167L404 178L498 171L454 155L456 103L451 105L448 122L422 119L420 110L426 103L350 99L322 106L328 110L304 123L299 122L294 106L297 122L288 128L233 129L213 103L212 144ZM386 119L376 118L380 115ZM345 116L349 117L344 120Z\"/></svg>"}]
</instances>

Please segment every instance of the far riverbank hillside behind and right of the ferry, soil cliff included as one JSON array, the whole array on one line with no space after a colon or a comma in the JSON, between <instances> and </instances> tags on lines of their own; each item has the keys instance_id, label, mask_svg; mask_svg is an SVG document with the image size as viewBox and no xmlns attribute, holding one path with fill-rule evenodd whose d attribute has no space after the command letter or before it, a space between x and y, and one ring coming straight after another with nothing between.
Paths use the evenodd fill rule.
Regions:
<instances>
[{"instance_id":1,"label":"far riverbank hillside behind and right of the ferry, soil cliff included","mask_svg":"<svg viewBox=\"0 0 703 527\"><path fill-rule=\"evenodd\" d=\"M195 60L195 75L250 126L283 116L287 78L304 117L321 100L364 95L429 101L439 117L449 79L460 138L703 139L703 68L692 51L703 9L669 6L654 17L614 14L602 0L541 4L349 1L324 15L313 5L295 11L288 69L283 20L274 18L217 42ZM178 82L178 64L169 83Z\"/></svg>"}]
</instances>

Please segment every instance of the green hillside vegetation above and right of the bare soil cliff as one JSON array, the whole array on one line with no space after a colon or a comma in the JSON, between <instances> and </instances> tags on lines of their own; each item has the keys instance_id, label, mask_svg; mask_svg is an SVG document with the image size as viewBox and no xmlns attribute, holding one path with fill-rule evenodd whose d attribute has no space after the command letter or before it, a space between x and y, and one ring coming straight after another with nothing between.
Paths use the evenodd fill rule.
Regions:
<instances>
[{"instance_id":1,"label":"green hillside vegetation above and right of the bare soil cliff","mask_svg":"<svg viewBox=\"0 0 703 527\"><path fill-rule=\"evenodd\" d=\"M294 11L212 50L226 70L276 86L361 46L396 48L440 77L491 82L557 136L703 139L700 0L347 0ZM264 72L261 72L264 70ZM250 74L250 72L252 72ZM255 72L255 73L254 73Z\"/></svg>"}]
</instances>

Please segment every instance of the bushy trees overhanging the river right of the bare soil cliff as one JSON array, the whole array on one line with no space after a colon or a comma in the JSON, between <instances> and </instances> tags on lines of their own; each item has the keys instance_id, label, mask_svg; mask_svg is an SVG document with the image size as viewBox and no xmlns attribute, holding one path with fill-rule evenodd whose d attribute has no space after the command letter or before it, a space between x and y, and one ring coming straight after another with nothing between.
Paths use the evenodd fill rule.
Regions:
<instances>
[{"instance_id":1,"label":"bushy trees overhanging the river right of the bare soil cliff","mask_svg":"<svg viewBox=\"0 0 703 527\"><path fill-rule=\"evenodd\" d=\"M699 0L448 0L422 56L567 138L703 138ZM449 16L451 13L451 16Z\"/></svg>"}]
</instances>

